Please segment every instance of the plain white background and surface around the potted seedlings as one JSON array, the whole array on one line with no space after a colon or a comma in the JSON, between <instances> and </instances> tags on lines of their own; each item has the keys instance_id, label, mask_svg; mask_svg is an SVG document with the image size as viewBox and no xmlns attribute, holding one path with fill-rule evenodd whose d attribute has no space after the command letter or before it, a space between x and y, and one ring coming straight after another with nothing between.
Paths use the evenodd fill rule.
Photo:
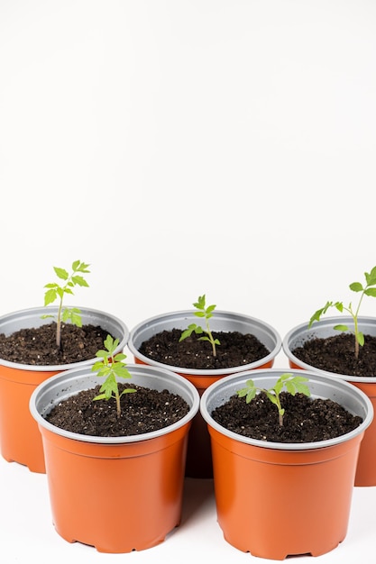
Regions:
<instances>
[{"instance_id":1,"label":"plain white background and surface around the potted seedlings","mask_svg":"<svg viewBox=\"0 0 376 564\"><path fill-rule=\"evenodd\" d=\"M206 294L284 336L352 300L376 264L375 63L373 0L0 0L0 314L42 305L75 259L90 288L71 303L129 329ZM186 486L164 543L104 555L60 539L45 477L1 459L1 550L261 561L223 540L211 481ZM354 488L320 564L373 562L375 502Z\"/></svg>"}]
</instances>

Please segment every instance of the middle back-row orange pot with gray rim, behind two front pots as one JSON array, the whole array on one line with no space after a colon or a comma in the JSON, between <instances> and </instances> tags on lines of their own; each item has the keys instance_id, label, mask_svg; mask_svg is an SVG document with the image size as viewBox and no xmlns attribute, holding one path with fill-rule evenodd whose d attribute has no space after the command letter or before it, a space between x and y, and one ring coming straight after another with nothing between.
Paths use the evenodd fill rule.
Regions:
<instances>
[{"instance_id":1,"label":"middle back-row orange pot with gray rim, behind two front pots","mask_svg":"<svg viewBox=\"0 0 376 564\"><path fill-rule=\"evenodd\" d=\"M172 329L187 329L190 323L197 323L197 316L194 311L180 311L169 314L160 314L136 325L131 330L128 340L128 348L133 353L134 361L138 364L149 364L151 366L166 368L177 372L187 378L197 387L200 396L211 384L220 378L225 378L234 372L253 368L270 368L274 359L280 352L282 341L279 333L268 323L244 314L234 312L214 311L210 319L210 328L214 332L241 332L251 333L261 341L270 351L262 359L256 360L243 366L224 368L224 369L203 369L185 368L170 366L154 359L145 357L140 352L143 341L148 341L151 337L162 331ZM207 432L206 423L198 412L194 418L189 432L186 476L189 478L213 478L213 463L210 449L210 437Z\"/></svg>"}]
</instances>

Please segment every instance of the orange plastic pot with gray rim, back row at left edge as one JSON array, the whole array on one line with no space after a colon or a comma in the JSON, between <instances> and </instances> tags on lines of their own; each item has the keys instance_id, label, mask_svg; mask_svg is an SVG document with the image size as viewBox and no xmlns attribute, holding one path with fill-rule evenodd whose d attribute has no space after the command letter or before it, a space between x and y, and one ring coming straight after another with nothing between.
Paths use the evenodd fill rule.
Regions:
<instances>
[{"instance_id":1,"label":"orange plastic pot with gray rim, back row at left edge","mask_svg":"<svg viewBox=\"0 0 376 564\"><path fill-rule=\"evenodd\" d=\"M116 351L123 350L129 331L117 317L94 309L81 308L82 323L99 325L119 339ZM42 315L56 316L57 307L35 307L0 317L0 332L6 336L21 329L51 323ZM33 366L0 359L0 443L1 454L8 462L18 462L32 472L45 472L41 433L33 420L29 401L33 390L42 381L71 368L94 364L96 359L56 366Z\"/></svg>"}]
</instances>

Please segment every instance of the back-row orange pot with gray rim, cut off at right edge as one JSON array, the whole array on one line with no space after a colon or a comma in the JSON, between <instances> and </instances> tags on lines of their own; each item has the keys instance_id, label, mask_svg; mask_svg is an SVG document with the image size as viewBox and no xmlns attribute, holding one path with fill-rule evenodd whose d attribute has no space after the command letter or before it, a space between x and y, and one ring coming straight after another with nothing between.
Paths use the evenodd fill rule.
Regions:
<instances>
[{"instance_id":1,"label":"back-row orange pot with gray rim, cut off at right edge","mask_svg":"<svg viewBox=\"0 0 376 564\"><path fill-rule=\"evenodd\" d=\"M375 377L356 377L347 374L335 374L319 368L310 366L306 362L298 359L293 353L297 347L301 347L305 341L313 338L326 339L338 335L334 326L336 324L353 325L353 318L350 316L326 317L307 329L307 323L301 323L292 328L284 337L282 342L283 351L289 359L291 368L302 368L305 370L315 370L317 374L332 376L334 378L346 380L354 387L362 390L371 400L373 408L376 409L376 378ZM376 319L372 317L358 318L359 331L376 337ZM359 453L358 466L355 475L355 486L368 487L376 486L376 420L373 420L368 427L362 440Z\"/></svg>"}]
</instances>

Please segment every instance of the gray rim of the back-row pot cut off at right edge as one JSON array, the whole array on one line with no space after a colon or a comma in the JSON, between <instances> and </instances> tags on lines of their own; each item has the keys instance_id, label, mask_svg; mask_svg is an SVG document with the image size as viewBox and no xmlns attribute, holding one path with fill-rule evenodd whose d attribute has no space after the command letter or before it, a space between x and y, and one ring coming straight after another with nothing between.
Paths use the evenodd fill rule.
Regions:
<instances>
[{"instance_id":1,"label":"gray rim of the back-row pot cut off at right edge","mask_svg":"<svg viewBox=\"0 0 376 564\"><path fill-rule=\"evenodd\" d=\"M328 372L327 370L322 370L321 368L316 368L303 360L298 359L292 350L291 350L291 340L294 337L302 336L307 334L307 338L309 337L319 337L317 332L320 329L330 329L333 325L337 323L343 323L346 325L353 325L353 318L350 315L334 315L332 317L326 317L320 319L313 323L310 329L307 328L308 322L306 323L299 323L292 327L289 332L286 333L285 337L282 340L282 350L284 354L287 356L289 360L297 364L298 366L305 368L306 370L314 370L317 374L321 374L323 376L331 376L332 378L341 378L343 380L347 380L348 382L362 382L363 384L376 384L376 377L368 377L368 376L352 376L350 374L336 374L335 372ZM359 325L362 323L371 323L376 326L376 318L371 316L362 315L358 317ZM333 334L337 335L339 332L333 330ZM307 339L303 339L303 341L307 341ZM294 346L295 348L295 346Z\"/></svg>"}]
</instances>

